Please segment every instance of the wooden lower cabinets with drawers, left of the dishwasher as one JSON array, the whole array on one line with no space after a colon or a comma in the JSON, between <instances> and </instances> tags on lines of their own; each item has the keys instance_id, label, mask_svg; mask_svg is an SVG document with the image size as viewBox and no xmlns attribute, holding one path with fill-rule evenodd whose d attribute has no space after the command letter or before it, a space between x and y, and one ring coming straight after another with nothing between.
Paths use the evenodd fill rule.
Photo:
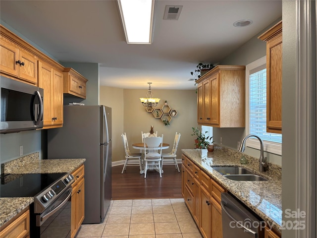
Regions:
<instances>
[{"instance_id":1,"label":"wooden lower cabinets with drawers, left of the dishwasher","mask_svg":"<svg viewBox=\"0 0 317 238\"><path fill-rule=\"evenodd\" d=\"M182 193L204 238L222 238L221 193L226 190L182 155Z\"/></svg>"}]
</instances>

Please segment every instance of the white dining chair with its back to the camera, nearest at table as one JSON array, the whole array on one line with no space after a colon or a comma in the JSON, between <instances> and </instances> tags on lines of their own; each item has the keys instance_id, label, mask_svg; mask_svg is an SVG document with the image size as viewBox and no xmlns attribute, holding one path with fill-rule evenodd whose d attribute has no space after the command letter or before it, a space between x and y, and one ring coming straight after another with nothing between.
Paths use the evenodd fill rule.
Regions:
<instances>
[{"instance_id":1,"label":"white dining chair with its back to the camera, nearest at table","mask_svg":"<svg viewBox=\"0 0 317 238\"><path fill-rule=\"evenodd\" d=\"M144 137L144 178L147 178L148 170L159 171L162 178L160 161L162 155L163 135L161 137Z\"/></svg>"}]
</instances>

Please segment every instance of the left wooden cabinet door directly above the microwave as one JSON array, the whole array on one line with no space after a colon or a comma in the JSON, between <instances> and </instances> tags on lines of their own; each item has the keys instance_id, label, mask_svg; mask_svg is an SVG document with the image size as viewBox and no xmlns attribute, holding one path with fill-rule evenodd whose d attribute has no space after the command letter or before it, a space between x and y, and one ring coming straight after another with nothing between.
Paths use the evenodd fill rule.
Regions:
<instances>
[{"instance_id":1,"label":"left wooden cabinet door directly above the microwave","mask_svg":"<svg viewBox=\"0 0 317 238\"><path fill-rule=\"evenodd\" d=\"M0 70L9 75L18 76L18 47L0 36Z\"/></svg>"}]
</instances>

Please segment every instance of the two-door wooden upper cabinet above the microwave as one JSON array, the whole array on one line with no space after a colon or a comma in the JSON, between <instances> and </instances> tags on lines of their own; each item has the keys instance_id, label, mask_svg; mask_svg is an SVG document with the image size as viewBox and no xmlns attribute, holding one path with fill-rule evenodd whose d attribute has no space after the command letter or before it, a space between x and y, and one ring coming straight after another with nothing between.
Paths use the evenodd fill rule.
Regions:
<instances>
[{"instance_id":1,"label":"two-door wooden upper cabinet above the microwave","mask_svg":"<svg viewBox=\"0 0 317 238\"><path fill-rule=\"evenodd\" d=\"M0 36L0 71L2 74L37 85L38 58Z\"/></svg>"}]
</instances>

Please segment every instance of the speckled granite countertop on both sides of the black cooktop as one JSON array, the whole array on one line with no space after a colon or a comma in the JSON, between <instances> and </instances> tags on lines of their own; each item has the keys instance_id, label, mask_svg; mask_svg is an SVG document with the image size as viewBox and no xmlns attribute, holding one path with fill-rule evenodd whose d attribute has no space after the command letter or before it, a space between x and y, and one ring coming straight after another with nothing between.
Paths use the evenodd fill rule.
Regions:
<instances>
[{"instance_id":1,"label":"speckled granite countertop on both sides of the black cooktop","mask_svg":"<svg viewBox=\"0 0 317 238\"><path fill-rule=\"evenodd\" d=\"M86 159L40 160L39 152L1 164L1 174L70 173ZM34 202L33 197L0 198L0 227Z\"/></svg>"}]
</instances>

